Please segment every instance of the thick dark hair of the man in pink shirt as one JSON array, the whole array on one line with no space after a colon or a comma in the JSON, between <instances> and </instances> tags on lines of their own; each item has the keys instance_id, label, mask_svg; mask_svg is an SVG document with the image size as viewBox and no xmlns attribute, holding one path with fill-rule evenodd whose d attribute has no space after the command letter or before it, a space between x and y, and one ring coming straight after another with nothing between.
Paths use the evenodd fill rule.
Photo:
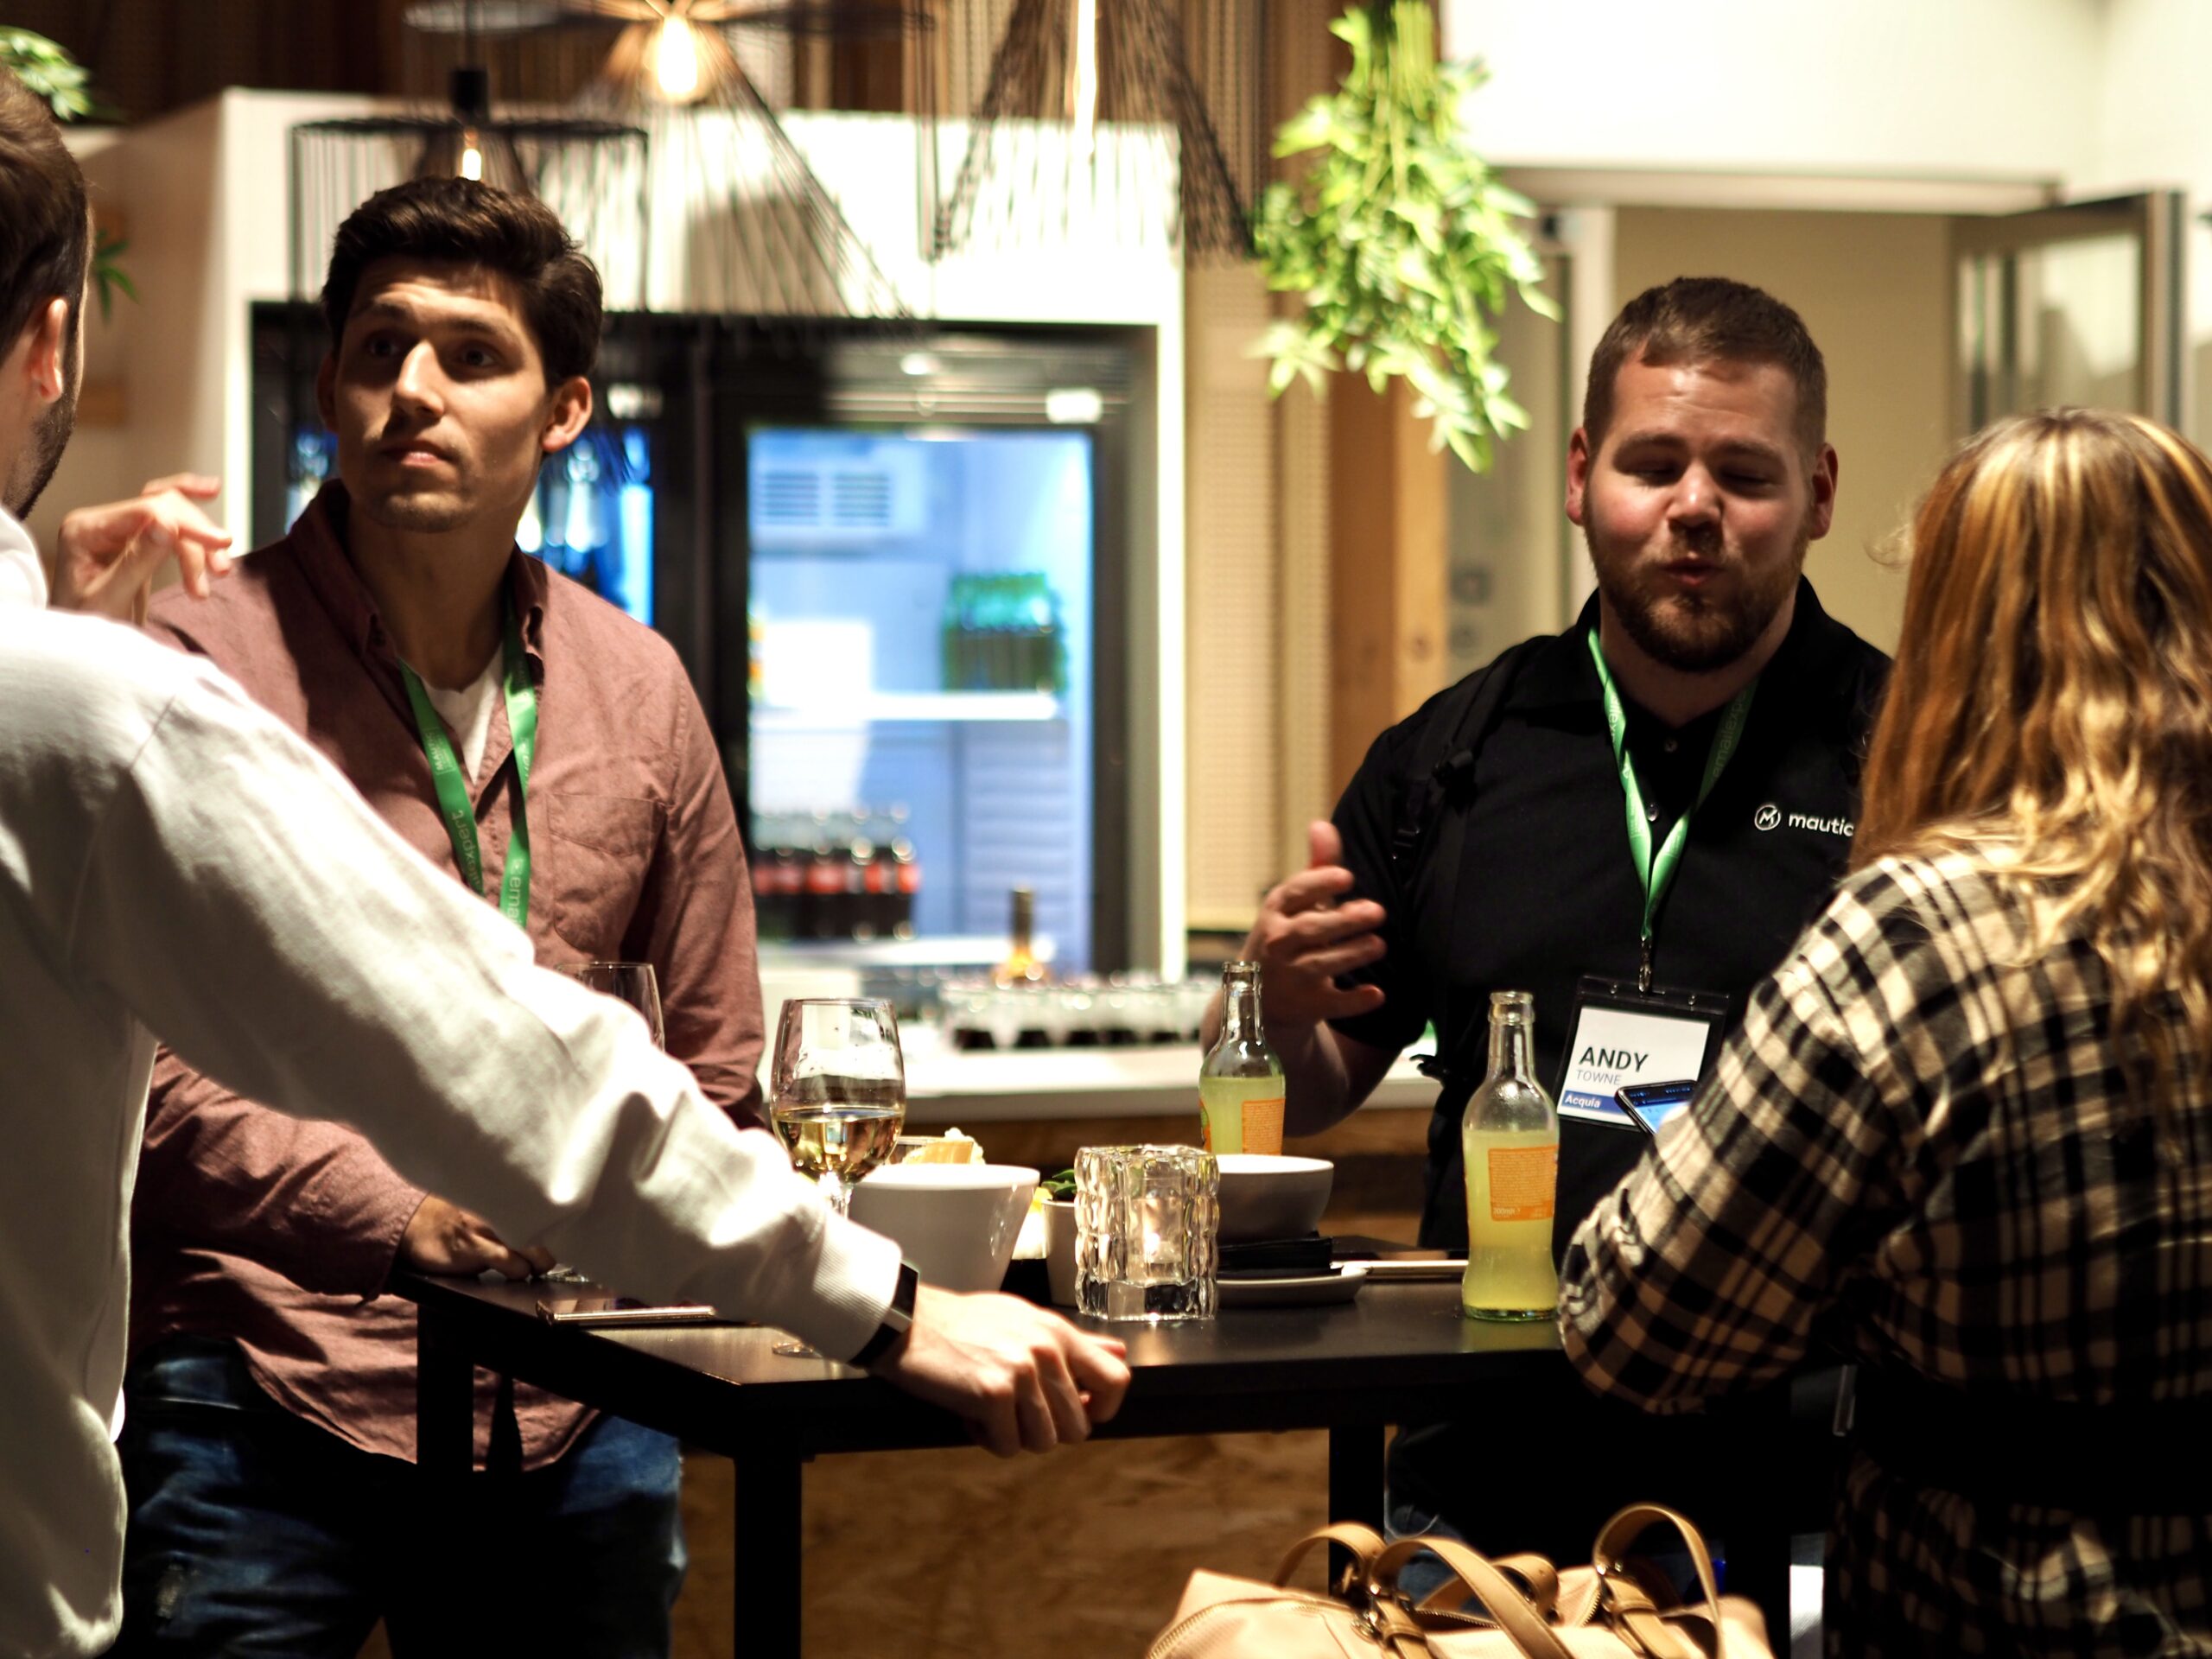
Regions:
<instances>
[{"instance_id":1,"label":"thick dark hair of the man in pink shirt","mask_svg":"<svg viewBox=\"0 0 2212 1659\"><path fill-rule=\"evenodd\" d=\"M409 179L354 208L330 250L323 321L345 341L361 274L378 259L431 259L493 270L522 290L546 385L599 361L599 270L538 197L473 179Z\"/></svg>"}]
</instances>

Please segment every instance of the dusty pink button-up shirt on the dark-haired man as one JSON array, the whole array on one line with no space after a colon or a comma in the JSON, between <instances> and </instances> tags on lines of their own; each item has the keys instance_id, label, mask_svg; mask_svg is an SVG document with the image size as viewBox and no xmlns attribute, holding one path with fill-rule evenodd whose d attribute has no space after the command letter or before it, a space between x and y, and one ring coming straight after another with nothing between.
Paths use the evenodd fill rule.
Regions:
<instances>
[{"instance_id":1,"label":"dusty pink button-up shirt on the dark-haired man","mask_svg":"<svg viewBox=\"0 0 2212 1659\"><path fill-rule=\"evenodd\" d=\"M232 675L460 880L392 637L341 542L345 511L343 487L325 487L212 599L173 591L148 628ZM668 1053L741 1126L759 1124L752 898L706 712L659 635L522 553L507 580L538 679L538 960L653 962ZM473 794L484 889L498 894L515 812L504 706ZM343 869L312 876L345 902ZM133 1206L133 1349L237 1338L283 1407L365 1451L414 1458L414 1307L380 1292L422 1197L352 1130L239 1099L164 1051ZM491 1394L478 1376L478 1455ZM560 1458L591 1420L529 1387L515 1407L524 1467Z\"/></svg>"}]
</instances>

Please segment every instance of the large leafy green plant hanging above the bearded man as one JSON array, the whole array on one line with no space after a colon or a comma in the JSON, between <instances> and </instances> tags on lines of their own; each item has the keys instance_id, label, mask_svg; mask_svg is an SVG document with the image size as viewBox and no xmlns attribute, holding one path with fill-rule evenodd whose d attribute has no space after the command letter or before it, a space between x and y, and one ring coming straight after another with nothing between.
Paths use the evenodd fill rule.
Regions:
<instances>
[{"instance_id":1,"label":"large leafy green plant hanging above the bearded man","mask_svg":"<svg viewBox=\"0 0 2212 1659\"><path fill-rule=\"evenodd\" d=\"M1398 376L1436 447L1484 471L1491 445L1528 427L1491 356L1491 319L1515 292L1559 314L1515 226L1535 206L1467 148L1460 106L1486 71L1436 62L1425 0L1356 4L1329 31L1352 46L1352 73L1274 139L1276 155L1321 155L1303 179L1267 186L1254 221L1267 285L1305 299L1256 347L1274 361L1267 385L1303 376L1318 392L1345 367L1383 392Z\"/></svg>"}]
</instances>

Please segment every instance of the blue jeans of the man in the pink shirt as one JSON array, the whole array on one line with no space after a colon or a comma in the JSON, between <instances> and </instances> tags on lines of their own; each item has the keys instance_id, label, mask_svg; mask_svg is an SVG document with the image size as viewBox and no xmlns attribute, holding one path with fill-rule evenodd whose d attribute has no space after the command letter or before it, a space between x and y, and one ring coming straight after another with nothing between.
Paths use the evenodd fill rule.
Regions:
<instances>
[{"instance_id":1,"label":"blue jeans of the man in the pink shirt","mask_svg":"<svg viewBox=\"0 0 2212 1659\"><path fill-rule=\"evenodd\" d=\"M117 1655L354 1659L376 1619L394 1655L668 1652L686 1557L664 1433L599 1418L546 1469L471 1480L453 1524L411 1462L294 1418L232 1343L168 1340L126 1396Z\"/></svg>"}]
</instances>

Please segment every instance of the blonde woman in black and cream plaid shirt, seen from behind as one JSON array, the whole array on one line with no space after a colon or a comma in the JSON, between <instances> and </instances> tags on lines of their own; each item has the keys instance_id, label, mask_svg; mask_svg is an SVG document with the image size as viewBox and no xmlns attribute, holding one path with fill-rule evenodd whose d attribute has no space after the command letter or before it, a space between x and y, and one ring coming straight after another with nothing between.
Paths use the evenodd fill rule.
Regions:
<instances>
[{"instance_id":1,"label":"blonde woman in black and cream plaid shirt, seen from behind","mask_svg":"<svg viewBox=\"0 0 2212 1659\"><path fill-rule=\"evenodd\" d=\"M2212 462L1982 434L1913 524L1854 874L1584 1223L1652 1411L1860 1358L1829 1655L2212 1655Z\"/></svg>"}]
</instances>

